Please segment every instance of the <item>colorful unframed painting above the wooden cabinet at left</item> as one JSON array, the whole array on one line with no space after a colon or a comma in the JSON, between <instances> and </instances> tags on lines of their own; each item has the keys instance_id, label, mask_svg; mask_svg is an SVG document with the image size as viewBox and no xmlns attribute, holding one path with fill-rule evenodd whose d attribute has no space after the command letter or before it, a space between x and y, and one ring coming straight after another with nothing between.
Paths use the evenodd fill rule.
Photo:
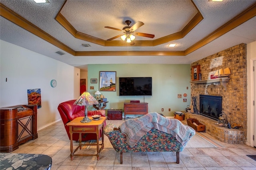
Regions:
<instances>
[{"instance_id":1,"label":"colorful unframed painting above the wooden cabinet at left","mask_svg":"<svg viewBox=\"0 0 256 170\"><path fill-rule=\"evenodd\" d=\"M41 108L41 89L28 89L28 105L37 104L37 108Z\"/></svg>"}]
</instances>

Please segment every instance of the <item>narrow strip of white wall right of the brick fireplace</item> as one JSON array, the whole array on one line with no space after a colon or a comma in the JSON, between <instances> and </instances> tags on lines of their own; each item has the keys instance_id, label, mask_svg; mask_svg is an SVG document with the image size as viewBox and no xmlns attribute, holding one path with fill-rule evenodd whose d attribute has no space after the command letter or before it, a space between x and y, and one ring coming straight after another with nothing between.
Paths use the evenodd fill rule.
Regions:
<instances>
[{"instance_id":1,"label":"narrow strip of white wall right of the brick fireplace","mask_svg":"<svg viewBox=\"0 0 256 170\"><path fill-rule=\"evenodd\" d=\"M252 101L254 100L254 79L252 66L253 62L256 60L256 41L247 44L247 145L253 147L253 128L254 128L254 110L255 106L252 106ZM255 68L254 68L255 69ZM255 70L254 70L255 74Z\"/></svg>"}]
</instances>

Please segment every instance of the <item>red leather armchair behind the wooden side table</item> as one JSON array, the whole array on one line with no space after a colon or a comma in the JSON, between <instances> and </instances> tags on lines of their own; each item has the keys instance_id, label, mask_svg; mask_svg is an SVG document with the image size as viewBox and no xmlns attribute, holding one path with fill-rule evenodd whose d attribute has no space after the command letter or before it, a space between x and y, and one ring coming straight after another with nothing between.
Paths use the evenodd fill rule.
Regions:
<instances>
[{"instance_id":1,"label":"red leather armchair behind the wooden side table","mask_svg":"<svg viewBox=\"0 0 256 170\"><path fill-rule=\"evenodd\" d=\"M66 102L60 103L58 106L58 111L64 123L69 139L70 139L69 127L66 124L72 121L73 119L75 119L76 117L84 117L84 106L74 105L75 101L76 100L68 100ZM88 117L92 115L101 115L105 117L105 110L88 111ZM105 126L106 126L106 123L104 124L104 127ZM101 137L101 134L102 132L100 131L99 137ZM82 141L96 140L96 139L97 137L95 133L86 133L86 134L82 133ZM79 140L79 133L73 133L73 140L74 141Z\"/></svg>"}]
</instances>

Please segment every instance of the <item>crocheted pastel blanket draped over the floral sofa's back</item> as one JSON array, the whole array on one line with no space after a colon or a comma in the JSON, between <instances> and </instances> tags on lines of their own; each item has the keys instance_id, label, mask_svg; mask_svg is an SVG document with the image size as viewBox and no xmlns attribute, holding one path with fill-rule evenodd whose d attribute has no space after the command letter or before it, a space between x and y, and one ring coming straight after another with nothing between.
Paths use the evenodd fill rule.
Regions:
<instances>
[{"instance_id":1,"label":"crocheted pastel blanket draped over the floral sofa's back","mask_svg":"<svg viewBox=\"0 0 256 170\"><path fill-rule=\"evenodd\" d=\"M128 145L134 147L152 127L173 135L182 144L188 141L190 133L191 136L195 135L194 129L183 125L178 119L168 119L156 112L136 119L128 119L120 125L120 130L126 135Z\"/></svg>"}]
</instances>

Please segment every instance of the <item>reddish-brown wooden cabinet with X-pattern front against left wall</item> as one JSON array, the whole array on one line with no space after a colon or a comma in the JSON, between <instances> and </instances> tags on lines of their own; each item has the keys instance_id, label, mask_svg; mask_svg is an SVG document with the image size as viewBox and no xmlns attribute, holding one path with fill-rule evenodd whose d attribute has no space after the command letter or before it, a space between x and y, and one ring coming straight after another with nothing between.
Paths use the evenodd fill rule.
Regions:
<instances>
[{"instance_id":1,"label":"reddish-brown wooden cabinet with X-pattern front against left wall","mask_svg":"<svg viewBox=\"0 0 256 170\"><path fill-rule=\"evenodd\" d=\"M38 138L37 105L0 108L0 152L12 152L21 143Z\"/></svg>"}]
</instances>

